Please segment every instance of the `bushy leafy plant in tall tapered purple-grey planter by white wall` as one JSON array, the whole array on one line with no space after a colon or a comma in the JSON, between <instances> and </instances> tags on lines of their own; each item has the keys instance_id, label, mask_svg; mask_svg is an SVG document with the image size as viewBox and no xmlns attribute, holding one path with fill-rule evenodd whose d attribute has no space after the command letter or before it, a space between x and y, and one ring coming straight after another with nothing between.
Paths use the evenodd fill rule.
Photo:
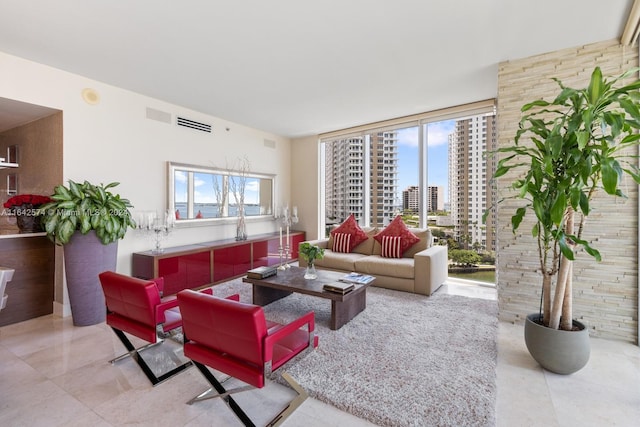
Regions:
<instances>
[{"instance_id":1,"label":"bushy leafy plant in tall tapered purple-grey planter by white wall","mask_svg":"<svg viewBox=\"0 0 640 427\"><path fill-rule=\"evenodd\" d=\"M135 227L129 200L109 191L119 185L82 184L55 187L43 205L42 224L51 241L64 246L64 265L73 323L87 326L105 320L104 294L98 274L115 271L118 240Z\"/></svg>"}]
</instances>

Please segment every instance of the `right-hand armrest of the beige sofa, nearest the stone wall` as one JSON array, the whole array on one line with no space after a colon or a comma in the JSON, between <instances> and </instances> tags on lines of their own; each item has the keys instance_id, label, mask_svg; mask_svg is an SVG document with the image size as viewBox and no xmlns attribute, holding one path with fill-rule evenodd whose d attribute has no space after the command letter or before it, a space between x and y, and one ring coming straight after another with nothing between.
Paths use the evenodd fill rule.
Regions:
<instances>
[{"instance_id":1,"label":"right-hand armrest of the beige sofa, nearest the stone wall","mask_svg":"<svg viewBox=\"0 0 640 427\"><path fill-rule=\"evenodd\" d=\"M413 257L415 268L415 290L423 295L431 295L447 280L449 275L446 246L431 246Z\"/></svg>"}]
</instances>

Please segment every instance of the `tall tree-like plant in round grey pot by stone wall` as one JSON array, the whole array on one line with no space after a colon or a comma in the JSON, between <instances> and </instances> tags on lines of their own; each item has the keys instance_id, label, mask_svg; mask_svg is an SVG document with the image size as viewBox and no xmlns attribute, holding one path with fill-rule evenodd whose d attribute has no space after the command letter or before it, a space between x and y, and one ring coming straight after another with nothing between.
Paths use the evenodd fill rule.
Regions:
<instances>
[{"instance_id":1,"label":"tall tree-like plant in round grey pot by stone wall","mask_svg":"<svg viewBox=\"0 0 640 427\"><path fill-rule=\"evenodd\" d=\"M516 194L506 198L525 201L511 218L514 233L525 215L534 215L542 299L540 312L527 317L525 341L534 359L556 373L573 373L589 359L588 331L573 320L572 266L580 249L601 259L582 237L591 201L601 190L624 197L624 174L640 183L628 161L635 158L629 148L640 139L640 81L623 83L637 72L604 78L597 67L583 89L554 79L557 97L525 104L514 145L497 151L494 178L514 168L521 172L511 184Z\"/></svg>"}]
</instances>

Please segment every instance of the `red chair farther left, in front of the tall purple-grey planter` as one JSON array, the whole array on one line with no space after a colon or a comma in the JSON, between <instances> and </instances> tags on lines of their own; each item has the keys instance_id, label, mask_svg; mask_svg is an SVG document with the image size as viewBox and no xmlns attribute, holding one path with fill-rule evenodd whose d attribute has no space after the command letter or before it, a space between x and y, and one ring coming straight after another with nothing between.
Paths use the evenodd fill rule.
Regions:
<instances>
[{"instance_id":1,"label":"red chair farther left, in front of the tall purple-grey planter","mask_svg":"<svg viewBox=\"0 0 640 427\"><path fill-rule=\"evenodd\" d=\"M177 366L157 376L140 354L150 347L162 344L164 338L182 326L177 298L161 298L164 285L162 278L142 280L113 271L105 271L99 278L107 305L107 325L111 326L128 350L111 360L112 364L129 356L133 357L154 386L191 366L191 361L184 362L172 354ZM204 292L212 293L211 289ZM125 332L149 344L135 348Z\"/></svg>"}]
</instances>

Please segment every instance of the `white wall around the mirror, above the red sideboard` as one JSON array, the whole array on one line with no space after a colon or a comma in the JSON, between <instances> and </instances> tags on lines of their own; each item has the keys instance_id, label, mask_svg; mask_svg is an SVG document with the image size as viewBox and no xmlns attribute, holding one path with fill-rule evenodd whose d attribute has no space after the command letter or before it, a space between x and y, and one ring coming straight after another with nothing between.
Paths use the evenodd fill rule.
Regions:
<instances>
[{"instance_id":1,"label":"white wall around the mirror, above the red sideboard","mask_svg":"<svg viewBox=\"0 0 640 427\"><path fill-rule=\"evenodd\" d=\"M82 89L100 95L87 104ZM166 209L166 162L227 167L247 156L252 172L276 174L275 205L289 203L291 141L177 105L109 86L0 52L0 97L63 111L64 181L120 182L114 189L135 209ZM146 118L146 109L171 113L173 123ZM247 108L251 108L250 105ZM175 115L213 125L211 134L177 127ZM229 128L229 131L226 130ZM274 141L275 148L265 146ZM272 144L267 144L272 145ZM52 189L53 191L53 189ZM306 215L306 214L305 214ZM249 235L276 230L273 220L250 221ZM166 245L235 236L235 224L175 229ZM151 239L130 231L118 247L118 271L129 274L131 254L151 249ZM56 301L62 286L56 285ZM64 298L64 304L67 304Z\"/></svg>"}]
</instances>

